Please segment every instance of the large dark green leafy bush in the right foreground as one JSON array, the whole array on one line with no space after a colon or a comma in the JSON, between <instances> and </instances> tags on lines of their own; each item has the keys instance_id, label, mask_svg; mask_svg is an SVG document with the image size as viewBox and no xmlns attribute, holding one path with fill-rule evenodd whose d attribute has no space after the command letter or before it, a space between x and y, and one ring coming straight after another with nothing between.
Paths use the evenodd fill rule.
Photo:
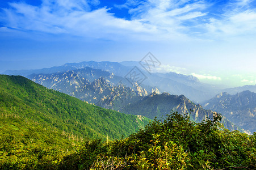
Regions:
<instances>
[{"instance_id":1,"label":"large dark green leafy bush in the right foreground","mask_svg":"<svg viewBox=\"0 0 256 170\"><path fill-rule=\"evenodd\" d=\"M128 138L105 143L110 150L101 152L91 168L255 169L255 133L230 132L220 120L216 114L196 124L189 115L172 112Z\"/></svg>"}]
</instances>

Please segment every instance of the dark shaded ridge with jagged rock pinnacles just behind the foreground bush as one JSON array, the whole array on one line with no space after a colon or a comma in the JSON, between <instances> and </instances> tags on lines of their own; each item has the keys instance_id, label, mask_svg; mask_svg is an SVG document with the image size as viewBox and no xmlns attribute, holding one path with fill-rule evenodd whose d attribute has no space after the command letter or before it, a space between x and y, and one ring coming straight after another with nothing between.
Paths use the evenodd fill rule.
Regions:
<instances>
[{"instance_id":1,"label":"dark shaded ridge with jagged rock pinnacles just behind the foreground bush","mask_svg":"<svg viewBox=\"0 0 256 170\"><path fill-rule=\"evenodd\" d=\"M194 112L190 112L190 109ZM121 112L127 114L140 113L142 116L153 119L154 117L165 117L166 114L169 114L171 110L178 111L182 114L188 113L196 122L201 122L207 117L213 118L215 115L215 112L203 109L201 105L192 103L192 101L183 95L170 95L168 93L163 93L161 95L156 93L150 94L139 101L135 101L134 103L123 107ZM223 123L224 126L229 130L244 131L230 122L224 116L222 117L221 123ZM248 131L247 133L250 132Z\"/></svg>"}]
</instances>

